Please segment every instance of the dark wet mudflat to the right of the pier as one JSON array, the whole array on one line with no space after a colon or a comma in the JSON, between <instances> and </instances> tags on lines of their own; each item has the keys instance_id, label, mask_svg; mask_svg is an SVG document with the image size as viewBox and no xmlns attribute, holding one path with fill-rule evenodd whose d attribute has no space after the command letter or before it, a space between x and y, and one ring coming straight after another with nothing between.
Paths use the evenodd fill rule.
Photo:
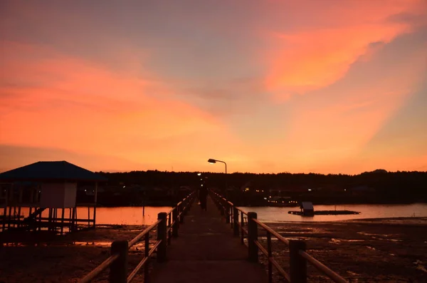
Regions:
<instances>
[{"instance_id":1,"label":"dark wet mudflat to the right of the pier","mask_svg":"<svg viewBox=\"0 0 427 283\"><path fill-rule=\"evenodd\" d=\"M268 225L305 240L312 256L349 282L427 282L427 217ZM275 241L273 253L287 270L288 247ZM310 282L331 282L310 264L308 274Z\"/></svg>"}]
</instances>

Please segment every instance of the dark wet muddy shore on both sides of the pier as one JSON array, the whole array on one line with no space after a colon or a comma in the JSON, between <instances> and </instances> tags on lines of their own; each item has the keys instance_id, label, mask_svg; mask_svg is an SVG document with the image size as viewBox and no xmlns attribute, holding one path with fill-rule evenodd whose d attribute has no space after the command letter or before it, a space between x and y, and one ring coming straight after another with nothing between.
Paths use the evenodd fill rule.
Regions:
<instances>
[{"instance_id":1,"label":"dark wet muddy shore on both sides of the pier","mask_svg":"<svg viewBox=\"0 0 427 283\"><path fill-rule=\"evenodd\" d=\"M280 222L269 226L287 239L306 240L310 254L349 282L427 282L427 217ZM113 240L131 240L142 229L101 226L48 242L5 244L0 247L0 282L78 282L109 256ZM262 230L259 235L265 241ZM130 269L142 259L142 250L137 246L130 251ZM273 253L285 270L287 250L273 241ZM260 260L265 262L263 257ZM308 272L310 282L330 282L310 265ZM95 282L106 282L107 276L104 272ZM283 282L278 274L275 282Z\"/></svg>"}]
</instances>

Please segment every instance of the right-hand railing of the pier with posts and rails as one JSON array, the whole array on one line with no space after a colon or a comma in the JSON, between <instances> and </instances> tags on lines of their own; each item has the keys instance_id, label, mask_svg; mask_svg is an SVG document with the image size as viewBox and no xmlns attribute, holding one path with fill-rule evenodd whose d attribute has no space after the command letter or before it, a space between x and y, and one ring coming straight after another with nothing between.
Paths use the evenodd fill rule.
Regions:
<instances>
[{"instance_id":1,"label":"right-hand railing of the pier with posts and rails","mask_svg":"<svg viewBox=\"0 0 427 283\"><path fill-rule=\"evenodd\" d=\"M241 237L242 244L246 245L245 237L247 239L248 259L251 262L258 262L258 252L262 252L268 258L268 282L273 282L273 267L290 283L307 283L307 262L312 264L313 267L320 270L327 277L332 279L333 282L347 283L347 280L339 276L336 272L332 271L329 267L322 262L312 257L311 254L306 252L305 241L303 240L286 240L278 232L260 222L257 219L255 212L245 212L240 208L233 205L232 202L226 198L218 195L216 192L211 192L211 197L216 203L216 206L221 211L221 215L226 218L226 223L230 223L233 228L233 233L236 237ZM240 221L239 221L240 219ZM245 228L245 219L246 227ZM258 241L258 228L262 228L267 235L267 247L265 248ZM289 274L285 272L283 267L273 257L271 237L277 238L289 247Z\"/></svg>"}]
</instances>

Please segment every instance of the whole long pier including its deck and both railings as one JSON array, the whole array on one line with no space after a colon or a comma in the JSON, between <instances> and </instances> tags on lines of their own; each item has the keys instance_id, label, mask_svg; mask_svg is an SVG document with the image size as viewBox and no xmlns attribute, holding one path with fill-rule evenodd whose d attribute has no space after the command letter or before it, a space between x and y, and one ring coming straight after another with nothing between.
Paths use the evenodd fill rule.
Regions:
<instances>
[{"instance_id":1,"label":"whole long pier including its deck and both railings","mask_svg":"<svg viewBox=\"0 0 427 283\"><path fill-rule=\"evenodd\" d=\"M307 283L307 264L335 283L348 283L306 252L304 240L285 239L260 222L255 212L241 210L217 192L209 194L208 211L201 210L195 198L196 192L191 192L169 212L160 212L157 222L132 240L112 242L110 257L79 283L92 282L107 268L110 283L142 283L143 279L137 277L140 269L144 269L145 282L153 283L273 283L273 268L283 277L280 282L284 279L290 283ZM258 240L258 230L266 241ZM157 241L150 244L149 234L154 231ZM273 237L288 246L287 250L280 251L289 255L288 267L282 267L275 259ZM144 241L144 255L130 272L127 254L130 247L141 241ZM150 272L154 254L157 263L152 262ZM260 254L268 260L266 266L259 263Z\"/></svg>"}]
</instances>

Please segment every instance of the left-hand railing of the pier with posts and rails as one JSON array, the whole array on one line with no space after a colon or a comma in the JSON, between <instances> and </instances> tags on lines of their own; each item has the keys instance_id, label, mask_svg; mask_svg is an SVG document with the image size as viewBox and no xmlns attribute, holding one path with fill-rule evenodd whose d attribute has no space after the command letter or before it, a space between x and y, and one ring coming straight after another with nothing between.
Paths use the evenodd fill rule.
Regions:
<instances>
[{"instance_id":1,"label":"left-hand railing of the pier with posts and rails","mask_svg":"<svg viewBox=\"0 0 427 283\"><path fill-rule=\"evenodd\" d=\"M109 267L110 275L108 282L110 283L130 283L142 267L144 267L144 280L146 280L149 272L149 260L154 252L157 253L157 262L164 262L166 260L167 245L171 245L172 237L178 236L179 225L184 222L184 216L191 207L194 197L195 192L191 192L191 194L176 204L169 212L160 212L156 222L140 232L139 235L129 242L127 240L112 242L110 257L80 279L79 283L91 282ZM149 249L149 232L156 229L157 241ZM127 254L130 247L137 244L140 240L144 240L144 257L142 257L135 269L130 274L127 274Z\"/></svg>"}]
</instances>

